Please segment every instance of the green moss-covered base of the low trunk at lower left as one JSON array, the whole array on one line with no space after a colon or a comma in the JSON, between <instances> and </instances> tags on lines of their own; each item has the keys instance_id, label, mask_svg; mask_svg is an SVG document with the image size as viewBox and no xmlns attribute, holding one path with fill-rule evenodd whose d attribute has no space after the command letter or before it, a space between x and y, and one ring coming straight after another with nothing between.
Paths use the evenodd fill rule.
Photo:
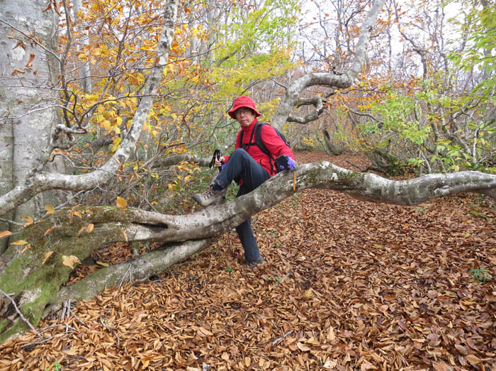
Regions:
<instances>
[{"instance_id":1,"label":"green moss-covered base of the low trunk at lower left","mask_svg":"<svg viewBox=\"0 0 496 371\"><path fill-rule=\"evenodd\" d=\"M89 224L94 225L88 233ZM43 310L57 298L60 286L67 282L70 267L64 256L80 261L108 243L123 240L121 225L129 217L116 207L63 209L34 223L10 242L24 240L25 245L9 245L0 259L0 289L9 294L28 321L37 326ZM23 251L24 250L24 251ZM9 299L0 308L0 343L28 330Z\"/></svg>"}]
</instances>

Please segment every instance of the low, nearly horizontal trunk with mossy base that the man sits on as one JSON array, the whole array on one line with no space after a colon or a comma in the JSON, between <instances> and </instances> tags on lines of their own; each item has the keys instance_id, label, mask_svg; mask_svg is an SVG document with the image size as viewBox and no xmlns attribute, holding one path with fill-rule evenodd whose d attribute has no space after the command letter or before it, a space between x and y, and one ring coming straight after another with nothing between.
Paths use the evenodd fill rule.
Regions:
<instances>
[{"instance_id":1,"label":"low, nearly horizontal trunk with mossy base that the man sits on","mask_svg":"<svg viewBox=\"0 0 496 371\"><path fill-rule=\"evenodd\" d=\"M458 192L480 192L496 198L496 175L458 172L393 181L318 162L301 165L294 173L283 172L250 194L194 214L171 216L110 206L64 209L11 238L26 241L30 248L20 253L26 244L11 245L1 256L0 289L12 294L23 316L36 326L43 313L47 313L45 309L56 309L66 299L88 298L121 280L157 275L207 247L210 238L230 231L249 216L306 188L335 189L366 201L417 205ZM67 257L75 256L82 261L105 245L133 241L173 244L60 289L71 272L64 265ZM28 329L9 300L4 300L0 314L0 341Z\"/></svg>"}]
</instances>

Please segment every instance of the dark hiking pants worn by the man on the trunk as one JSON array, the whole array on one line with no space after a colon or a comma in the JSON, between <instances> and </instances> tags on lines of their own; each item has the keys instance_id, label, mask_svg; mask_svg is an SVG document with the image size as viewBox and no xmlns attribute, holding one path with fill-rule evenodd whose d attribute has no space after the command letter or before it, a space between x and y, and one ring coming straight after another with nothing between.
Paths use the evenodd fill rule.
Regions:
<instances>
[{"instance_id":1,"label":"dark hiking pants worn by the man on the trunk","mask_svg":"<svg viewBox=\"0 0 496 371\"><path fill-rule=\"evenodd\" d=\"M238 148L229 157L220 174L214 179L222 189L229 187L235 179L242 179L237 197L252 192L260 184L269 179L269 172L256 162L246 150ZM236 227L237 235L244 249L244 260L252 262L260 258L259 246L252 231L252 218Z\"/></svg>"}]
</instances>

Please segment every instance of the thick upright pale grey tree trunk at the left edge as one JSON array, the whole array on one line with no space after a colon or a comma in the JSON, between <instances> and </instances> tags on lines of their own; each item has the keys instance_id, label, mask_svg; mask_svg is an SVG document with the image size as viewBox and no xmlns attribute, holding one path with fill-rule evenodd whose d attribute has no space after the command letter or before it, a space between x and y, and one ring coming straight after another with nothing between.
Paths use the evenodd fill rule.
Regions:
<instances>
[{"instance_id":1,"label":"thick upright pale grey tree trunk at the left edge","mask_svg":"<svg viewBox=\"0 0 496 371\"><path fill-rule=\"evenodd\" d=\"M32 1L30 11L16 0L0 2L0 45L4 50L0 55L0 135L6 140L1 140L0 194L26 182L57 122L54 102L58 92L52 83L57 65L51 53L57 49L58 18L45 8L45 1ZM43 204L56 201L55 192L38 194L10 217L22 221L21 216L39 216Z\"/></svg>"}]
</instances>

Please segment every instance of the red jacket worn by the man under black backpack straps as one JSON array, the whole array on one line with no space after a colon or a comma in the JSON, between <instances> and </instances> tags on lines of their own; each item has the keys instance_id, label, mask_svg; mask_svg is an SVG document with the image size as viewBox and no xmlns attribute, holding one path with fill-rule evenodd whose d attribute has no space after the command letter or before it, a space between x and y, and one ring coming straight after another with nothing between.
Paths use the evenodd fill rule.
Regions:
<instances>
[{"instance_id":1,"label":"red jacket worn by the man under black backpack straps","mask_svg":"<svg viewBox=\"0 0 496 371\"><path fill-rule=\"evenodd\" d=\"M255 118L254 121L249 124L249 126L242 127L241 130L237 133L235 149L241 148L241 146L239 145L239 135L241 135L242 131L244 131L243 143L249 143L250 138L252 137L252 131L257 124L257 121L258 119ZM274 159L281 155L286 155L295 160L295 155L293 154L291 148L289 148L286 143L284 143L284 140L279 138L272 126L262 126L260 138L262 142L264 142L264 145L266 146L267 150L269 150ZM253 135L252 141L255 141L255 135ZM273 177L274 175L276 175L276 166L273 164L273 166L271 167L271 160L269 159L269 156L263 153L258 145L250 145L246 148L246 150L247 153L261 165L261 167L264 167L264 169L267 170L269 176ZM225 156L224 158L226 162L229 160L229 156Z\"/></svg>"}]
</instances>

